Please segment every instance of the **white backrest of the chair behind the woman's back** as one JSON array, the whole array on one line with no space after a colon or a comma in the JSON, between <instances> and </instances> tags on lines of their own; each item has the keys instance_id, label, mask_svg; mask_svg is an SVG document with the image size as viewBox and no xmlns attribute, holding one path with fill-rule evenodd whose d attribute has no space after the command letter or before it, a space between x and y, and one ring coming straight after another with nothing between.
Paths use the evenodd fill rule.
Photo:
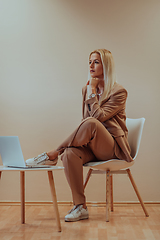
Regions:
<instances>
[{"instance_id":1,"label":"white backrest of the chair behind the woman's back","mask_svg":"<svg viewBox=\"0 0 160 240\"><path fill-rule=\"evenodd\" d=\"M145 118L126 119L126 125L128 128L128 142L131 148L131 156L133 159L135 159L138 154L144 122Z\"/></svg>"}]
</instances>

